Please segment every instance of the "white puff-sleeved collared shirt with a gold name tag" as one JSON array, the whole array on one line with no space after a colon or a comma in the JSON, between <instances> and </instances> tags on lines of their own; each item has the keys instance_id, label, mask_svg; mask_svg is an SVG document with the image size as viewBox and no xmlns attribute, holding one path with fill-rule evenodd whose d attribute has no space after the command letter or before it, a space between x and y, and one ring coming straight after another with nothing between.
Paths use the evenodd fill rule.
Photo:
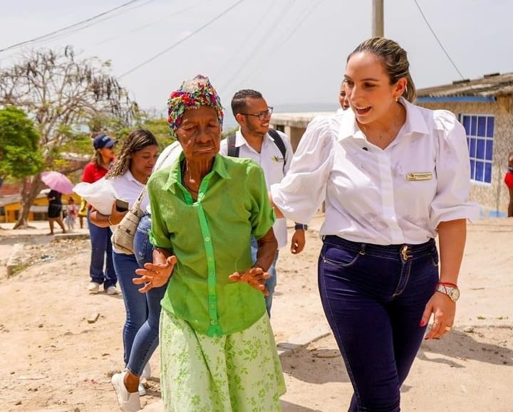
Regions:
<instances>
[{"instance_id":1,"label":"white puff-sleeved collared shirt with a gold name tag","mask_svg":"<svg viewBox=\"0 0 513 412\"><path fill-rule=\"evenodd\" d=\"M468 200L465 129L451 112L400 102L406 122L384 150L352 110L312 120L286 177L271 186L284 216L308 222L326 201L321 236L378 245L424 243L442 221L479 218Z\"/></svg>"}]
</instances>

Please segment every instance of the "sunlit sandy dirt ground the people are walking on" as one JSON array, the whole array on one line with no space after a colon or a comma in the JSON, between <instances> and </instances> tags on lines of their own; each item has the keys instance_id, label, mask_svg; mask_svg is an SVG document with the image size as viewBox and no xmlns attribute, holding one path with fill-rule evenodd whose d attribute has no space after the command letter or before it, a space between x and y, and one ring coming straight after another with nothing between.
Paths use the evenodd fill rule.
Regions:
<instances>
[{"instance_id":1,"label":"sunlit sandy dirt ground the people are walking on","mask_svg":"<svg viewBox=\"0 0 513 412\"><path fill-rule=\"evenodd\" d=\"M271 323L281 351L294 348L281 353L286 412L346 411L352 393L318 298L320 222L304 253L279 260ZM123 366L123 300L86 292L88 240L47 231L0 230L0 411L118 411L110 376ZM403 411L513 411L512 235L513 219L469 226L455 328L421 347ZM20 241L26 268L6 278L1 265ZM162 411L157 353L150 363L142 405Z\"/></svg>"}]
</instances>

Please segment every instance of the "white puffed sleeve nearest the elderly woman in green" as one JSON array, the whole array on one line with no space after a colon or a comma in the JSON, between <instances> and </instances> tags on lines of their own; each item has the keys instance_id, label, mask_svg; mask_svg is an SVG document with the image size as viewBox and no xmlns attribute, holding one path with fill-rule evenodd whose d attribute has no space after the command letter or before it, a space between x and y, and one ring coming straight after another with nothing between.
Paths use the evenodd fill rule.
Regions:
<instances>
[{"instance_id":1,"label":"white puffed sleeve nearest the elderly woman in green","mask_svg":"<svg viewBox=\"0 0 513 412\"><path fill-rule=\"evenodd\" d=\"M304 132L286 176L271 185L271 196L281 213L307 223L326 196L326 183L333 164L336 133L328 117L316 117Z\"/></svg>"}]
</instances>

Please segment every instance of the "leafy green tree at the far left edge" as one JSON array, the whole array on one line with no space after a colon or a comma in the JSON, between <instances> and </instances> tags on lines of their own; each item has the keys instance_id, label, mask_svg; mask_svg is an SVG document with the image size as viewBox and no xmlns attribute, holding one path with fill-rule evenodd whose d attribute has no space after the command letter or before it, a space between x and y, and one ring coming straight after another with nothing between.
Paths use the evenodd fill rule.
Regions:
<instances>
[{"instance_id":1,"label":"leafy green tree at the far left edge","mask_svg":"<svg viewBox=\"0 0 513 412\"><path fill-rule=\"evenodd\" d=\"M26 113L14 106L0 109L0 186L43 169L39 134Z\"/></svg>"}]
</instances>

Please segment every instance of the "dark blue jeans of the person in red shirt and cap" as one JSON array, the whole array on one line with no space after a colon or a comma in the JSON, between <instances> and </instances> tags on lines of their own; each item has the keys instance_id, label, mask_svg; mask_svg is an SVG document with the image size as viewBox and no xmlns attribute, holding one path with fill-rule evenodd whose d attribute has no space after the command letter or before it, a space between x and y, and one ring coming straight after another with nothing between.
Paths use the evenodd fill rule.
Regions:
<instances>
[{"instance_id":1,"label":"dark blue jeans of the person in red shirt and cap","mask_svg":"<svg viewBox=\"0 0 513 412\"><path fill-rule=\"evenodd\" d=\"M88 226L91 241L91 261L89 275L92 282L99 285L103 284L103 289L107 290L110 286L115 286L118 282L113 265L112 243L110 228L100 228L89 220L90 209L88 209ZM103 265L105 263L105 272Z\"/></svg>"}]
</instances>

